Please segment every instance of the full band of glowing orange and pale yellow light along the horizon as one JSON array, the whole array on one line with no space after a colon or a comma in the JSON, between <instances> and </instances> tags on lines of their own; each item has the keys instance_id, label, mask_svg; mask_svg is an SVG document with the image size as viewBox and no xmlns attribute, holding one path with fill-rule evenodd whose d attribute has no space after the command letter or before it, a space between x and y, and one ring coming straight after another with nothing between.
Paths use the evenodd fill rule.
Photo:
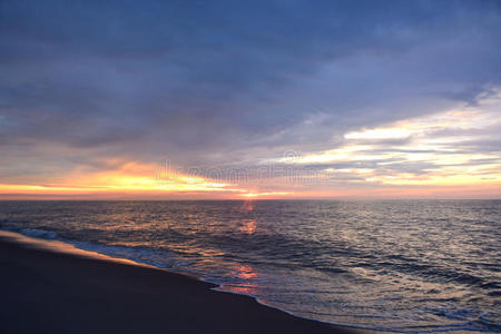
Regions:
<instances>
[{"instance_id":1,"label":"full band of glowing orange and pale yellow light along the horizon","mask_svg":"<svg viewBox=\"0 0 501 334\"><path fill-rule=\"evenodd\" d=\"M108 169L88 170L79 166L67 175L50 176L40 181L2 183L0 195L45 194L61 196L107 196L124 194L149 196L163 194L212 194L217 198L301 198L324 196L374 196L383 194L377 187L407 187L406 194L418 194L415 187L500 187L501 157L497 150L475 151L469 143L485 140L484 130L501 125L497 106L479 110L450 110L430 116L403 119L381 127L346 131L344 143L323 151L297 157L269 159L272 163L308 168L325 166L322 171L334 176L335 186L297 186L283 177L271 177L238 184L197 175L171 173L158 177L159 166L110 157L100 161ZM482 109L483 108L483 109ZM465 144L464 144L465 143ZM341 165L338 167L337 165ZM301 174L299 174L301 175ZM301 176L314 180L315 175ZM330 178L324 178L330 179ZM312 184L313 185L313 184ZM355 185L356 188L348 189ZM400 190L405 194L404 190ZM387 194L387 193L385 193ZM114 195L115 196L115 195Z\"/></svg>"}]
</instances>

